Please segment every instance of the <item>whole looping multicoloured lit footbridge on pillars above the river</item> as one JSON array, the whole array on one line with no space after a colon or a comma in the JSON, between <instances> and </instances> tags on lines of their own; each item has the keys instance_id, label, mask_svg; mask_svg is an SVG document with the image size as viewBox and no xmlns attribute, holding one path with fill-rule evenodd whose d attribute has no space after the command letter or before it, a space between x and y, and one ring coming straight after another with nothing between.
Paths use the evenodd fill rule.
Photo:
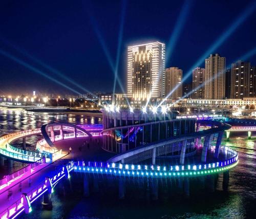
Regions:
<instances>
[{"instance_id":1,"label":"whole looping multicoloured lit footbridge on pillars above the river","mask_svg":"<svg viewBox=\"0 0 256 219\"><path fill-rule=\"evenodd\" d=\"M159 121L159 123L162 122ZM199 131L200 126L205 125L211 128ZM6 176L0 181L0 202L5 203L0 206L0 218L13 218L22 212L29 213L32 210L31 204L40 196L44 196L43 206L50 208L54 186L62 178L69 178L72 171L84 175L83 189L85 192L89 191L89 178L97 182L99 177L115 176L114 178L119 180L119 198L123 198L125 178L154 179L152 186L154 192L157 193L158 178L178 178L184 180L187 185L191 177L220 173L224 176L228 173L228 169L238 164L238 153L221 146L223 132L230 129L230 126L218 121L198 120L197 131L194 133L143 144L131 150L124 150L115 156L110 156L111 153L103 149L93 150L96 145L99 146L96 138L92 140L93 136L101 137L98 128L90 127L90 130L86 130L86 127L81 128L70 124L46 124L41 129L2 136L0 138L1 155L30 162L30 167L27 166L26 171ZM44 137L37 142L38 152L32 154L29 150L15 149L11 145L16 139L31 135ZM65 159L61 159L66 154L63 154L61 148L56 146L57 141L67 142L72 141L71 138L79 140L82 137L91 139L90 142L94 142L93 146L86 147L84 154L79 151L74 158L66 156ZM93 153L92 157L97 158L96 160L87 159L90 151ZM103 152L107 153L110 158L99 162L101 159L98 154ZM79 158L77 161L76 156L80 154L83 154L83 159Z\"/></svg>"}]
</instances>

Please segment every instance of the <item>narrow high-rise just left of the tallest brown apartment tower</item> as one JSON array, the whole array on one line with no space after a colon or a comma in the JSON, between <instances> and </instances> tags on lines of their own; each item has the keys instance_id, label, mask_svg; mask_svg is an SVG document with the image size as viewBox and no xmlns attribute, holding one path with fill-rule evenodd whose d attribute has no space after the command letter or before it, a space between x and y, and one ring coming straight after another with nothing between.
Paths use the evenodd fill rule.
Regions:
<instances>
[{"instance_id":1,"label":"narrow high-rise just left of the tallest brown apartment tower","mask_svg":"<svg viewBox=\"0 0 256 219\"><path fill-rule=\"evenodd\" d=\"M196 67L193 70L192 99L204 99L204 68ZM199 89L197 89L200 86Z\"/></svg>"}]
</instances>

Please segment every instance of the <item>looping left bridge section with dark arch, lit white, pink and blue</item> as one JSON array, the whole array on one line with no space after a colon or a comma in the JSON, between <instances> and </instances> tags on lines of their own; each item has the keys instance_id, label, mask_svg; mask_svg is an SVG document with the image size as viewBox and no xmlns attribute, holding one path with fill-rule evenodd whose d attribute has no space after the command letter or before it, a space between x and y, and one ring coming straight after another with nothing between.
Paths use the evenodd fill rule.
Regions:
<instances>
[{"instance_id":1,"label":"looping left bridge section with dark arch, lit white, pink and blue","mask_svg":"<svg viewBox=\"0 0 256 219\"><path fill-rule=\"evenodd\" d=\"M88 126L90 131L87 131L86 128L87 126L81 128L67 123L50 123L38 129L10 133L0 138L0 154L9 159L23 162L36 162L41 158L46 159L48 163L53 162L67 154L63 153L61 149L57 149L54 142L70 138L98 136L99 130L102 130L102 127L99 126L93 129L92 125ZM19 149L12 145L12 142L21 138L25 139L26 145L26 138L33 135L42 137L36 144L37 151L27 150L26 147Z\"/></svg>"}]
</instances>

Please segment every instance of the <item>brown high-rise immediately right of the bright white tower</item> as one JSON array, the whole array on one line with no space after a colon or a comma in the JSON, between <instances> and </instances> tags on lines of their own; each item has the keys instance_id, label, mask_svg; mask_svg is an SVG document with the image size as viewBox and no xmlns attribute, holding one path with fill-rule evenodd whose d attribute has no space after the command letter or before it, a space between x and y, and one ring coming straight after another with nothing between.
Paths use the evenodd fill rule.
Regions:
<instances>
[{"instance_id":1,"label":"brown high-rise immediately right of the bright white tower","mask_svg":"<svg viewBox=\"0 0 256 219\"><path fill-rule=\"evenodd\" d=\"M178 67L170 67L165 69L165 94L170 94L169 99L180 99L182 97L182 70ZM179 86L177 87L177 84ZM176 88L177 87L177 88ZM175 89L175 90L173 90Z\"/></svg>"}]
</instances>

